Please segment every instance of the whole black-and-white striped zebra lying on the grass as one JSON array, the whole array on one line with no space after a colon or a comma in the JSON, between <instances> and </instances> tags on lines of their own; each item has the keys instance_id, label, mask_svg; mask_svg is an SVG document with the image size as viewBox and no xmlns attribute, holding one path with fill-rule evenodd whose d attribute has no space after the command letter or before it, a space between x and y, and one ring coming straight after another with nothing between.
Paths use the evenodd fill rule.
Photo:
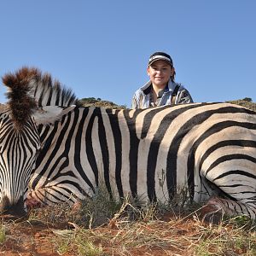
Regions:
<instances>
[{"instance_id":1,"label":"whole black-and-white striped zebra lying on the grass","mask_svg":"<svg viewBox=\"0 0 256 256\"><path fill-rule=\"evenodd\" d=\"M47 205L60 201L72 205L94 195L104 183L114 199L131 195L163 203L186 188L191 201L208 201L212 212L256 218L255 112L224 102L85 108L75 97L69 101L70 95L61 88L66 103L57 106L60 94L51 80L37 69L21 69L3 78L11 91L21 93L26 87L24 97L34 103L19 126L23 132L31 124L26 141L18 142L17 171L8 161L11 155L6 148L11 143L2 131L16 132L13 119L18 107L12 107L9 116L0 116L2 212L7 209L5 201L14 209L26 198ZM44 88L53 91L46 93ZM37 142L39 138L39 151L32 137ZM21 149L32 154L29 170ZM19 177L15 183L14 172ZM4 194L3 185L9 186L9 195ZM26 211L25 203L22 210Z\"/></svg>"}]
</instances>

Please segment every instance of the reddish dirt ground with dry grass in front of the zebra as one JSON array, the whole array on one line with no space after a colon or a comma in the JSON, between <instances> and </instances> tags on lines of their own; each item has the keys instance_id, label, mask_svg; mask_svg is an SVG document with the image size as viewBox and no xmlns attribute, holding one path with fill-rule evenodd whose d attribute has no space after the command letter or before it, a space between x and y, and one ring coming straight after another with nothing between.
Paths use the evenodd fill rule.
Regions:
<instances>
[{"instance_id":1,"label":"reddish dirt ground with dry grass in front of the zebra","mask_svg":"<svg viewBox=\"0 0 256 256\"><path fill-rule=\"evenodd\" d=\"M203 224L195 215L177 218L166 213L161 219L130 223L113 218L88 229L70 222L38 220L4 223L4 227L0 255L5 256L256 255L255 230Z\"/></svg>"}]
</instances>

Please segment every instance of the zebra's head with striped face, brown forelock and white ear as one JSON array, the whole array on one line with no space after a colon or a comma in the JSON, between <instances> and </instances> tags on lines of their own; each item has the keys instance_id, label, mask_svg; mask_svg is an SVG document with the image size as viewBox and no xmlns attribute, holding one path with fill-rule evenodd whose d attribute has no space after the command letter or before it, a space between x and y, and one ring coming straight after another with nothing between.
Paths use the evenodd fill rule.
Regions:
<instances>
[{"instance_id":1,"label":"zebra's head with striped face, brown forelock and white ear","mask_svg":"<svg viewBox=\"0 0 256 256\"><path fill-rule=\"evenodd\" d=\"M38 86L38 79L45 82L47 75L42 78L38 69L26 67L3 77L9 100L0 112L0 213L4 215L26 213L27 186L41 148L38 125L53 124L62 111L43 106L54 93ZM49 85L51 80L47 81Z\"/></svg>"}]
</instances>

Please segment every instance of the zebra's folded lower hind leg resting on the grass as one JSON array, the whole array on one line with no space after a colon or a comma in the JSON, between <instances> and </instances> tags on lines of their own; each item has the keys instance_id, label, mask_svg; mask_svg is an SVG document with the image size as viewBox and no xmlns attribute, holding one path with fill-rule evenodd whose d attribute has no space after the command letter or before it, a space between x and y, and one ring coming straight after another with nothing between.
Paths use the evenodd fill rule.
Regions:
<instances>
[{"instance_id":1,"label":"zebra's folded lower hind leg resting on the grass","mask_svg":"<svg viewBox=\"0 0 256 256\"><path fill-rule=\"evenodd\" d=\"M203 220L212 224L219 224L224 214L232 216L247 215L249 218L256 218L256 204L233 201L230 199L212 196L207 205L202 207L201 216Z\"/></svg>"}]
</instances>

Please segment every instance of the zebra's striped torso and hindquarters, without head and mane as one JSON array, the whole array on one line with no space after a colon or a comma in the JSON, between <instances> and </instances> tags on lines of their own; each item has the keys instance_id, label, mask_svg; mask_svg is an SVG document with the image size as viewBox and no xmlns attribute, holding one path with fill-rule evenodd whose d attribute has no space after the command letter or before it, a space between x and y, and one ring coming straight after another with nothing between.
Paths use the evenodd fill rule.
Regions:
<instances>
[{"instance_id":1,"label":"zebra's striped torso and hindquarters, without head and mane","mask_svg":"<svg viewBox=\"0 0 256 256\"><path fill-rule=\"evenodd\" d=\"M73 203L104 183L114 198L166 202L185 187L191 200L221 195L230 211L255 218L256 114L247 108L74 108L39 133L44 148L30 183L38 201Z\"/></svg>"}]
</instances>

